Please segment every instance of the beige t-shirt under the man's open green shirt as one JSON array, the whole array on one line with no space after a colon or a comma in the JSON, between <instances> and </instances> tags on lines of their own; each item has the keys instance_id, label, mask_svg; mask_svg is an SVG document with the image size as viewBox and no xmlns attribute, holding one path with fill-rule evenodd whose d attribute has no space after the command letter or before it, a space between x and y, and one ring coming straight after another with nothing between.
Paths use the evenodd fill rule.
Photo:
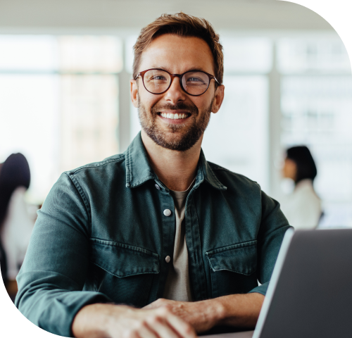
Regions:
<instances>
[{"instance_id":1,"label":"beige t-shirt under the man's open green shirt","mask_svg":"<svg viewBox=\"0 0 352 338\"><path fill-rule=\"evenodd\" d=\"M163 298L174 301L191 301L191 287L188 273L188 250L184 224L184 208L191 186L184 192L170 191L175 201L176 231L173 259L170 261Z\"/></svg>"}]
</instances>

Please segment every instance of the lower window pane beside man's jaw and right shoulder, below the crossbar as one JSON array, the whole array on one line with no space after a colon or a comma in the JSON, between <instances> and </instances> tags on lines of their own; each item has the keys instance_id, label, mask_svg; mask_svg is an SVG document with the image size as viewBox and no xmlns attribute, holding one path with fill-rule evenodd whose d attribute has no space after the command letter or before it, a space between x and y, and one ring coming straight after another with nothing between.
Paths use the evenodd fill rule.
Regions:
<instances>
[{"instance_id":1,"label":"lower window pane beside man's jaw and right shoulder, below the crossbar","mask_svg":"<svg viewBox=\"0 0 352 338\"><path fill-rule=\"evenodd\" d=\"M268 79L226 76L222 108L203 138L208 161L255 180L268 192Z\"/></svg>"}]
</instances>

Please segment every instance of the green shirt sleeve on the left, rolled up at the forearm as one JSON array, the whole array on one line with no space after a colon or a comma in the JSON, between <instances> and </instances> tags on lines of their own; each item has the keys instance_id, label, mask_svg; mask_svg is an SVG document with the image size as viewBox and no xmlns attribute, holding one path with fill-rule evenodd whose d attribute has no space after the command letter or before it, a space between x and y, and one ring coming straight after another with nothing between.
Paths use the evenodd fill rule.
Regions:
<instances>
[{"instance_id":1,"label":"green shirt sleeve on the left, rolled up at the forearm","mask_svg":"<svg viewBox=\"0 0 352 338\"><path fill-rule=\"evenodd\" d=\"M111 301L99 292L82 291L91 218L89 203L73 180L63 173L38 211L17 277L17 317L30 320L48 337L73 337L73 319L83 306Z\"/></svg>"}]
</instances>

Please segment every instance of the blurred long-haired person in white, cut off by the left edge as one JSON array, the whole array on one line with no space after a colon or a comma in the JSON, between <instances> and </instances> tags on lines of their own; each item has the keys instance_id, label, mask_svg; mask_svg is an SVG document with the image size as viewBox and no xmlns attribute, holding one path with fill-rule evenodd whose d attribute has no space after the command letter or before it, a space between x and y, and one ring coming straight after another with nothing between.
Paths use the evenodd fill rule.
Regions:
<instances>
[{"instance_id":1,"label":"blurred long-haired person in white, cut off by the left edge","mask_svg":"<svg viewBox=\"0 0 352 338\"><path fill-rule=\"evenodd\" d=\"M11 154L0 170L1 273L10 283L23 263L34 225L25 203L29 186L30 167L25 156Z\"/></svg>"}]
</instances>

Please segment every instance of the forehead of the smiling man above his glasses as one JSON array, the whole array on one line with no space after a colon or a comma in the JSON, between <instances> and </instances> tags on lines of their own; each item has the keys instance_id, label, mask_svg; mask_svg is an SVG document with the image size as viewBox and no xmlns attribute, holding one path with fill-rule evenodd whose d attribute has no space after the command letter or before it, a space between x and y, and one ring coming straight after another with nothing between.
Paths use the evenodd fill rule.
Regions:
<instances>
[{"instance_id":1,"label":"forehead of the smiling man above his glasses","mask_svg":"<svg viewBox=\"0 0 352 338\"><path fill-rule=\"evenodd\" d=\"M154 39L142 53L138 71L149 68L165 68L171 73L198 68L213 74L213 54L199 37L165 34Z\"/></svg>"}]
</instances>

